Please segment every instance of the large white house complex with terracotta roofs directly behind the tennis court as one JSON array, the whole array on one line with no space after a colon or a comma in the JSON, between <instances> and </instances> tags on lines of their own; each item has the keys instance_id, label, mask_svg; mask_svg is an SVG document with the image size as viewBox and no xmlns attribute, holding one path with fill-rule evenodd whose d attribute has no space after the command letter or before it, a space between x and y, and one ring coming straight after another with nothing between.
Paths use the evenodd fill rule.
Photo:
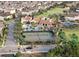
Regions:
<instances>
[{"instance_id":1,"label":"large white house complex with terracotta roofs directly behind the tennis court","mask_svg":"<svg viewBox=\"0 0 79 59\"><path fill-rule=\"evenodd\" d=\"M22 28L24 31L48 31L54 27L54 22L50 18L42 17L36 18L31 16L25 16L21 18Z\"/></svg>"}]
</instances>

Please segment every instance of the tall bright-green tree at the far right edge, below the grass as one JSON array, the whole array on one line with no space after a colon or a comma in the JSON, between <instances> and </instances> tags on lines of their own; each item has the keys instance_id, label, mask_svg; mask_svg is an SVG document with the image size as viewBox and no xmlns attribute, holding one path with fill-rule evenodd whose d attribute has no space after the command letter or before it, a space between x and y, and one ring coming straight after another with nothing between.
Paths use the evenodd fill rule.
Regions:
<instances>
[{"instance_id":1,"label":"tall bright-green tree at the far right edge, below the grass","mask_svg":"<svg viewBox=\"0 0 79 59\"><path fill-rule=\"evenodd\" d=\"M71 45L71 49L72 49L72 55L73 56L79 56L79 42L78 42L78 36L76 34L72 34L71 35L71 42L70 42L70 45Z\"/></svg>"}]
</instances>

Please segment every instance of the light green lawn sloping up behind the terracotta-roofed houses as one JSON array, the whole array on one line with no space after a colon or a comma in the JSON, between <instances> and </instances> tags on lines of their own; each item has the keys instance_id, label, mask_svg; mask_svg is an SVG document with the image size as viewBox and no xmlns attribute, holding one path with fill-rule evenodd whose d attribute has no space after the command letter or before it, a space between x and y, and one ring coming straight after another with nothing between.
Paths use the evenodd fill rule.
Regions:
<instances>
[{"instance_id":1,"label":"light green lawn sloping up behind the terracotta-roofed houses","mask_svg":"<svg viewBox=\"0 0 79 59\"><path fill-rule=\"evenodd\" d=\"M47 17L48 15L53 15L53 14L63 14L63 8L55 7L51 8L47 12L43 12L43 14L36 15L36 17Z\"/></svg>"}]
</instances>

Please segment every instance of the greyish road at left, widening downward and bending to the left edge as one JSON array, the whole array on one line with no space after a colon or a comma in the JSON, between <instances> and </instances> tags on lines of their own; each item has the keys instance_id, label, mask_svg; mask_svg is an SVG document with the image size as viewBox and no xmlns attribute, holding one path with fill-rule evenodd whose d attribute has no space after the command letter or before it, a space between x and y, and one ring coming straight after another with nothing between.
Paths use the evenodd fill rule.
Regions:
<instances>
[{"instance_id":1,"label":"greyish road at left, widening downward and bending to the left edge","mask_svg":"<svg viewBox=\"0 0 79 59\"><path fill-rule=\"evenodd\" d=\"M0 48L0 55L1 54L7 54L7 53L16 53L18 51L18 47L16 44L16 41L13 36L15 22L12 20L8 24L8 36L5 42L5 46Z\"/></svg>"}]
</instances>

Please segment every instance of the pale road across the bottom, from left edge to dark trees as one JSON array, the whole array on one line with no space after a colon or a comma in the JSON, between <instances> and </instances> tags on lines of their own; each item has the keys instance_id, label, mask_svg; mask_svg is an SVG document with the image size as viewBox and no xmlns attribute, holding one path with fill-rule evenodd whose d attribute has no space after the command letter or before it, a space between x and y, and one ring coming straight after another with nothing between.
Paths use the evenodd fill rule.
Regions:
<instances>
[{"instance_id":1,"label":"pale road across the bottom, from left edge to dark trees","mask_svg":"<svg viewBox=\"0 0 79 59\"><path fill-rule=\"evenodd\" d=\"M55 45L36 45L33 49L26 49L30 45L25 45L20 48L20 52L30 54L30 53L39 53L39 52L48 52L50 49L53 49ZM0 48L0 55L2 54L15 54L18 51L17 47L3 47Z\"/></svg>"}]
</instances>

